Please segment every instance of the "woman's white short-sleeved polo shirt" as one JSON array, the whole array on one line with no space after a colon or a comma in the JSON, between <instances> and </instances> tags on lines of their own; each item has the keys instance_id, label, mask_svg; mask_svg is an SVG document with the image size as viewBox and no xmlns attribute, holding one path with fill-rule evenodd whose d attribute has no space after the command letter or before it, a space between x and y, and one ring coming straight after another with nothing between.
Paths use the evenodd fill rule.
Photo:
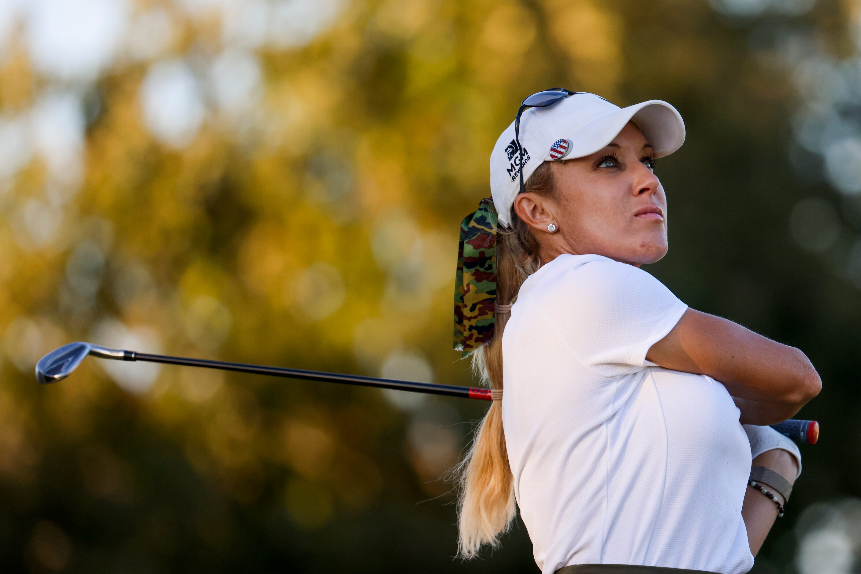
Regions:
<instances>
[{"instance_id":1,"label":"woman's white short-sleeved polo shirt","mask_svg":"<svg viewBox=\"0 0 861 574\"><path fill-rule=\"evenodd\" d=\"M561 255L502 339L514 491L543 574L573 564L741 574L751 449L726 388L648 349L687 306L646 271Z\"/></svg>"}]
</instances>

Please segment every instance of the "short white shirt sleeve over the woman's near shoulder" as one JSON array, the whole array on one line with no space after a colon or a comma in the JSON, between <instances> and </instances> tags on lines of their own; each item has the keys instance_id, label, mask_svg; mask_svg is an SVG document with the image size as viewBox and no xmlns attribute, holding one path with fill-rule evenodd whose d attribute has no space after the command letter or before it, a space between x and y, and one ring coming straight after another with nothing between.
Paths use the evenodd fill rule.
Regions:
<instances>
[{"instance_id":1,"label":"short white shirt sleeve over the woman's near shoulder","mask_svg":"<svg viewBox=\"0 0 861 574\"><path fill-rule=\"evenodd\" d=\"M602 257L568 269L536 300L584 367L604 376L653 366L648 349L687 310L641 268Z\"/></svg>"}]
</instances>

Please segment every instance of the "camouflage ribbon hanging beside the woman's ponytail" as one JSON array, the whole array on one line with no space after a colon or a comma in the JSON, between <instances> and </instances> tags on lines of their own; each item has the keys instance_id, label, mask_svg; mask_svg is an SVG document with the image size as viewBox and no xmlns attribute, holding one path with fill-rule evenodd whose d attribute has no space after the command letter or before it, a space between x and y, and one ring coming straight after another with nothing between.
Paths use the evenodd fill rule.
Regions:
<instances>
[{"instance_id":1,"label":"camouflage ribbon hanging beside the woman's ponytail","mask_svg":"<svg viewBox=\"0 0 861 574\"><path fill-rule=\"evenodd\" d=\"M497 213L486 197L461 222L455 275L455 346L467 357L490 341L496 326Z\"/></svg>"}]
</instances>

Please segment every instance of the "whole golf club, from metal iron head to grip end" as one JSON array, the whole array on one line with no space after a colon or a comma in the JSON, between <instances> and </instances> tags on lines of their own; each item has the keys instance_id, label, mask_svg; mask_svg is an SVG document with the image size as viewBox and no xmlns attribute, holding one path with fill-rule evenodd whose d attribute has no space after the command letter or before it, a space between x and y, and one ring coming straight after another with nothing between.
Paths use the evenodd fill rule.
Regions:
<instances>
[{"instance_id":1,"label":"whole golf club, from metal iron head to grip end","mask_svg":"<svg viewBox=\"0 0 861 574\"><path fill-rule=\"evenodd\" d=\"M273 377L289 379L322 380L328 383L344 385L373 386L378 389L394 389L396 391L424 392L426 394L443 395L446 397L474 398L477 400L492 400L490 389L480 389L468 386L437 385L435 383L420 383L412 380L381 379L364 377L356 374L323 373L320 371L305 371L296 368L269 367L266 365L251 365L227 361L210 361L208 359L192 359L170 355L151 355L138 353L127 349L107 349L92 343L69 343L59 349L54 349L36 363L36 380L46 385L64 380L74 371L88 355L115 361L148 361L168 365L183 365L185 367L219 368L238 373L265 374ZM791 439L808 444L815 444L819 438L819 423L816 421L801 421L790 419L783 423L771 425L773 429Z\"/></svg>"}]
</instances>

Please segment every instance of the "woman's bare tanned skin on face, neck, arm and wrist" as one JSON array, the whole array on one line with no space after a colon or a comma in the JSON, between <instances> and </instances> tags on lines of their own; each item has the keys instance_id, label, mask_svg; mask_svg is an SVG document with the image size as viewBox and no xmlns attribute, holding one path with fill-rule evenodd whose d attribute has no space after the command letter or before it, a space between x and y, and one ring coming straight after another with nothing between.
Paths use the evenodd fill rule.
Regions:
<instances>
[{"instance_id":1,"label":"woman's bare tanned skin on face, neck, arm and wrist","mask_svg":"<svg viewBox=\"0 0 861 574\"><path fill-rule=\"evenodd\" d=\"M666 255L666 194L653 172L652 146L634 122L604 149L553 163L551 169L554 197L524 193L514 201L517 216L536 235L542 262L563 253L595 253L640 267ZM558 231L548 231L551 223ZM690 308L646 358L661 367L720 381L739 407L743 424L784 421L822 386L800 350ZM798 472L795 458L782 449L760 454L753 465L771 468L790 484ZM777 506L748 487L741 515L756 555L777 518Z\"/></svg>"}]
</instances>

